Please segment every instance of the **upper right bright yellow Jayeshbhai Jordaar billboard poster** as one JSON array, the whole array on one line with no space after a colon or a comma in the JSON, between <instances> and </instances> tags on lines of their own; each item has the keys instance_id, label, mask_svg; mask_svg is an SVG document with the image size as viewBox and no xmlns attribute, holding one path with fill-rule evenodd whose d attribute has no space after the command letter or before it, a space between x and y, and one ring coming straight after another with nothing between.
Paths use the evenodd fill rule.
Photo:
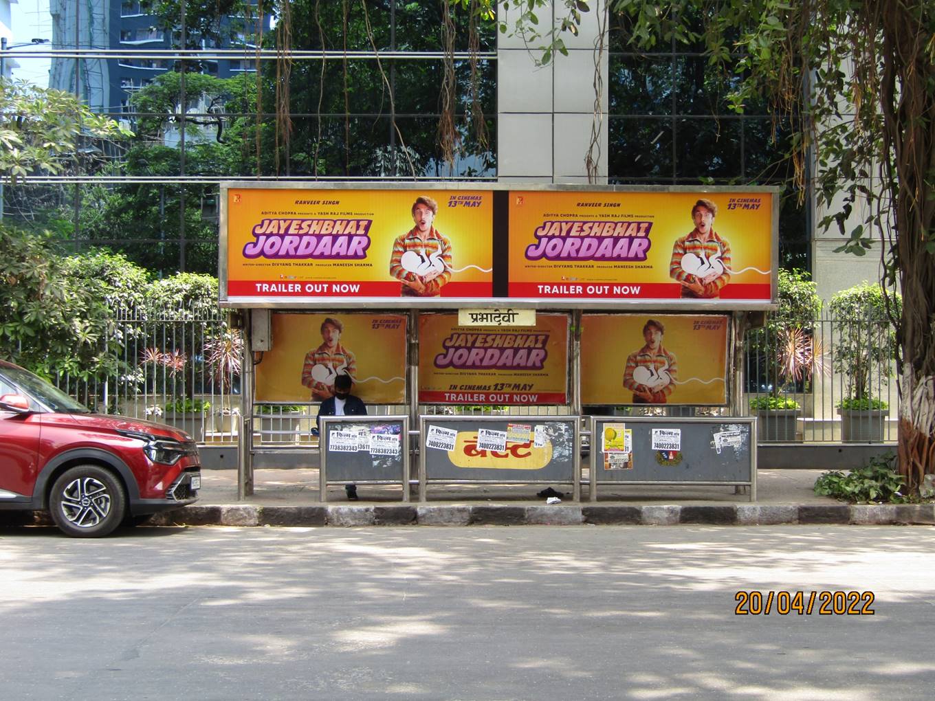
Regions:
<instances>
[{"instance_id":1,"label":"upper right bright yellow Jayeshbhai Jordaar billboard poster","mask_svg":"<svg viewBox=\"0 0 935 701\"><path fill-rule=\"evenodd\" d=\"M770 302L772 193L510 193L510 296Z\"/></svg>"}]
</instances>

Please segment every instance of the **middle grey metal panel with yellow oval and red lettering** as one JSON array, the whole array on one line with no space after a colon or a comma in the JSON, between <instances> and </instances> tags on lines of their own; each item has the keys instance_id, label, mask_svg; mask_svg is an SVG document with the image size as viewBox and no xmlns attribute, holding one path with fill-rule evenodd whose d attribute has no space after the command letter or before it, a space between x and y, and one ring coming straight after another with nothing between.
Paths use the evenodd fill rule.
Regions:
<instances>
[{"instance_id":1,"label":"middle grey metal panel with yellow oval and red lettering","mask_svg":"<svg viewBox=\"0 0 935 701\"><path fill-rule=\"evenodd\" d=\"M422 477L427 481L498 481L498 482L561 482L571 484L576 475L575 465L580 459L578 450L577 416L539 417L539 416L422 416L420 417L421 445L424 447ZM487 451L472 449L474 458L479 458L487 465L459 466L453 462L452 452L426 447L426 436L432 426L457 431L459 434L477 434L478 429L506 431L510 423L529 424L534 427L544 426L544 433L551 446L551 458L548 463L537 469L495 467L496 455ZM463 436L461 436L463 437ZM530 446L517 446L514 454L523 457L530 454Z\"/></svg>"}]
</instances>

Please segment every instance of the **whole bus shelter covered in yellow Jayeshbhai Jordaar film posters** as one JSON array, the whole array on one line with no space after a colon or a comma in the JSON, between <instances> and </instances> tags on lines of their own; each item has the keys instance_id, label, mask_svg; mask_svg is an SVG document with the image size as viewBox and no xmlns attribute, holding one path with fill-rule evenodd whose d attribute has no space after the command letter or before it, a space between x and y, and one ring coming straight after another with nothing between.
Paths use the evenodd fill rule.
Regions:
<instances>
[{"instance_id":1,"label":"whole bus shelter covered in yellow Jayeshbhai Jordaar film posters","mask_svg":"<svg viewBox=\"0 0 935 701\"><path fill-rule=\"evenodd\" d=\"M626 436L632 418L641 436L640 417L654 430L677 419L669 430L688 435L699 407L746 415L742 336L776 304L778 209L775 188L225 183L220 301L246 320L240 498L252 494L253 456L276 450L256 444L257 408L317 406L339 375L405 431L407 457L392 477L368 476L387 462L370 447L395 439L364 436L361 426L389 425L365 421L356 444L347 427L319 436L323 472L353 463L355 479L405 481L404 498L410 479L423 499L435 481L570 484L578 498L589 444L591 498L601 479L633 479L640 452L661 443L640 438L627 464L598 428L625 424ZM501 415L453 416L478 406ZM538 420L533 407L563 418ZM625 416L592 430L590 413ZM736 442L732 431L717 433ZM705 451L685 461L705 479L687 481L753 496L755 455L744 478L721 448L669 451ZM683 481L653 475L636 481Z\"/></svg>"}]
</instances>

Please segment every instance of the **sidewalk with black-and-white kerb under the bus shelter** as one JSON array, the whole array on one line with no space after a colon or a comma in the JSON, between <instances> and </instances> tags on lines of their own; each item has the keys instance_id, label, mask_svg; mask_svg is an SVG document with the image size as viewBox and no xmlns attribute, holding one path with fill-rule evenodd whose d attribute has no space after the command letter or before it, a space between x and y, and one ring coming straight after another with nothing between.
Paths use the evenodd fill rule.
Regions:
<instances>
[{"instance_id":1,"label":"sidewalk with black-and-white kerb under the bus shelter","mask_svg":"<svg viewBox=\"0 0 935 701\"><path fill-rule=\"evenodd\" d=\"M237 501L237 471L203 470L199 501L159 514L153 523L231 526L374 525L572 525L630 523L671 525L779 523L935 524L935 505L849 506L813 493L824 470L759 470L756 501L730 486L601 485L600 499L571 501L569 487L560 504L536 495L543 485L433 485L420 502L413 486L409 504L401 488L360 485L358 501L341 486L319 501L318 470L263 468L254 472L254 494ZM585 473L586 474L586 473Z\"/></svg>"}]
</instances>

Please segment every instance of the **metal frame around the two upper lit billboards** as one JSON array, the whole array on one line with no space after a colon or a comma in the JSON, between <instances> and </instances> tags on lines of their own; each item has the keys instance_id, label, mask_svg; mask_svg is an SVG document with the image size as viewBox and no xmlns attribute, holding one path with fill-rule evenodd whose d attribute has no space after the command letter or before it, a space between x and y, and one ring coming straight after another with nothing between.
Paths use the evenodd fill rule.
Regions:
<instances>
[{"instance_id":1,"label":"metal frame around the two upper lit billboards","mask_svg":"<svg viewBox=\"0 0 935 701\"><path fill-rule=\"evenodd\" d=\"M492 241L495 261L507 255L509 241L505 236L497 236L498 231L506 230L508 222L500 222L498 218L508 217L508 211L497 213L496 193L509 198L511 192L571 192L571 193L697 193L704 194L753 194L769 193L772 202L771 231L770 231L770 301L744 300L744 299L683 299L683 298L611 298L611 299L533 299L511 298L508 295L492 297L266 297L266 296L237 296L228 294L228 225L230 212L228 208L228 193L232 189L248 190L308 190L308 191L359 191L359 190L424 190L431 192L459 191L491 191L495 193L495 213L493 222ZM219 227L219 292L220 306L222 308L358 308L371 309L439 309L439 308L490 308L491 306L509 305L513 308L534 308L541 310L561 309L592 309L606 308L669 308L673 312L681 310L700 311L757 311L776 308L778 304L778 267L779 267L779 193L775 186L716 186L716 187L689 187L681 185L652 186L652 185L551 185L541 183L492 183L492 182L380 182L380 181L278 181L256 182L250 180L231 180L223 182L220 188L220 227ZM500 239L504 240L500 240ZM495 293L497 287L497 273L494 273ZM504 279L504 287L508 284Z\"/></svg>"}]
</instances>

